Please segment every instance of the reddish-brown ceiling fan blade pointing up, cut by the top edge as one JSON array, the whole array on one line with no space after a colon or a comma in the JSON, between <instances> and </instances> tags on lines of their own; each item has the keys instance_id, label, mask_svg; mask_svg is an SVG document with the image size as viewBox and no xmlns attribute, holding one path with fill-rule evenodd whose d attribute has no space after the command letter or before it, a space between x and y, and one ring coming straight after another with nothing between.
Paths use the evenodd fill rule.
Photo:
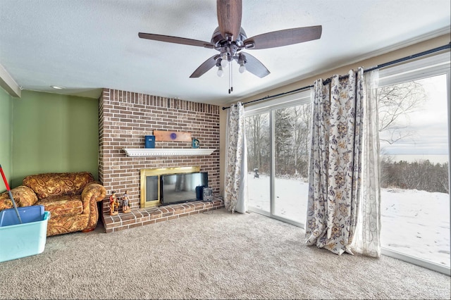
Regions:
<instances>
[{"instance_id":1,"label":"reddish-brown ceiling fan blade pointing up, cut by the top edge","mask_svg":"<svg viewBox=\"0 0 451 300\"><path fill-rule=\"evenodd\" d=\"M217 0L216 12L221 35L227 39L227 34L237 39L241 29L242 2L241 0Z\"/></svg>"}]
</instances>

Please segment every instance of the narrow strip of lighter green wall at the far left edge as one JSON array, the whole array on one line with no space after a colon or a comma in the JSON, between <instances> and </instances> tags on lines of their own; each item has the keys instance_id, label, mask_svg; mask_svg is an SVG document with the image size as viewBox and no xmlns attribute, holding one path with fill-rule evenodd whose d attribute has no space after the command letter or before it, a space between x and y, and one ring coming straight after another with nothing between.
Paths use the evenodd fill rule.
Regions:
<instances>
[{"instance_id":1,"label":"narrow strip of lighter green wall at the far left edge","mask_svg":"<svg viewBox=\"0 0 451 300\"><path fill-rule=\"evenodd\" d=\"M11 170L13 158L12 148L12 127L13 127L13 97L0 87L0 165L4 170L8 185L11 185ZM0 193L5 192L6 187L0 179Z\"/></svg>"}]
</instances>

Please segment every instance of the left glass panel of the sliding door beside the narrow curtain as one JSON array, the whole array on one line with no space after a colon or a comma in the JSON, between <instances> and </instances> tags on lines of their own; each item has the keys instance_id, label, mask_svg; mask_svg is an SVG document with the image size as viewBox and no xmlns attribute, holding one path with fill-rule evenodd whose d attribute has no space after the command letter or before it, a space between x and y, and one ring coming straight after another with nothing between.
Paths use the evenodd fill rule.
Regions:
<instances>
[{"instance_id":1,"label":"left glass panel of the sliding door beside the narrow curtain","mask_svg":"<svg viewBox=\"0 0 451 300\"><path fill-rule=\"evenodd\" d=\"M253 210L269 215L271 201L269 113L249 115L245 120L248 205Z\"/></svg>"}]
</instances>

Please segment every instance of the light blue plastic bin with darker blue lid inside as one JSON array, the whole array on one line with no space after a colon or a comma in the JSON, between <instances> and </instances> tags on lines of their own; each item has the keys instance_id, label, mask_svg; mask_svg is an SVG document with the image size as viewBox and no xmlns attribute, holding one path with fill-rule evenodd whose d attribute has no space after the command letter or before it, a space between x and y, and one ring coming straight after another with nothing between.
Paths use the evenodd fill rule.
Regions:
<instances>
[{"instance_id":1,"label":"light blue plastic bin with darker blue lid inside","mask_svg":"<svg viewBox=\"0 0 451 300\"><path fill-rule=\"evenodd\" d=\"M47 240L50 212L44 206L19 207L22 224L16 211L6 209L0 214L0 262L41 254Z\"/></svg>"}]
</instances>

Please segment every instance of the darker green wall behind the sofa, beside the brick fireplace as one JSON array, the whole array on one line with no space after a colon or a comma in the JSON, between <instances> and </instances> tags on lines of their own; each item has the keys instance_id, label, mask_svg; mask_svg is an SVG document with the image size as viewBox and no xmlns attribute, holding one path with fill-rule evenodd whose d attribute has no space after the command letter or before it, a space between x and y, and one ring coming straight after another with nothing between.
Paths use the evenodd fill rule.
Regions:
<instances>
[{"instance_id":1,"label":"darker green wall behind the sofa, beside the brick fireplace","mask_svg":"<svg viewBox=\"0 0 451 300\"><path fill-rule=\"evenodd\" d=\"M98 178L99 100L23 91L13 103L13 175L88 171Z\"/></svg>"}]
</instances>

